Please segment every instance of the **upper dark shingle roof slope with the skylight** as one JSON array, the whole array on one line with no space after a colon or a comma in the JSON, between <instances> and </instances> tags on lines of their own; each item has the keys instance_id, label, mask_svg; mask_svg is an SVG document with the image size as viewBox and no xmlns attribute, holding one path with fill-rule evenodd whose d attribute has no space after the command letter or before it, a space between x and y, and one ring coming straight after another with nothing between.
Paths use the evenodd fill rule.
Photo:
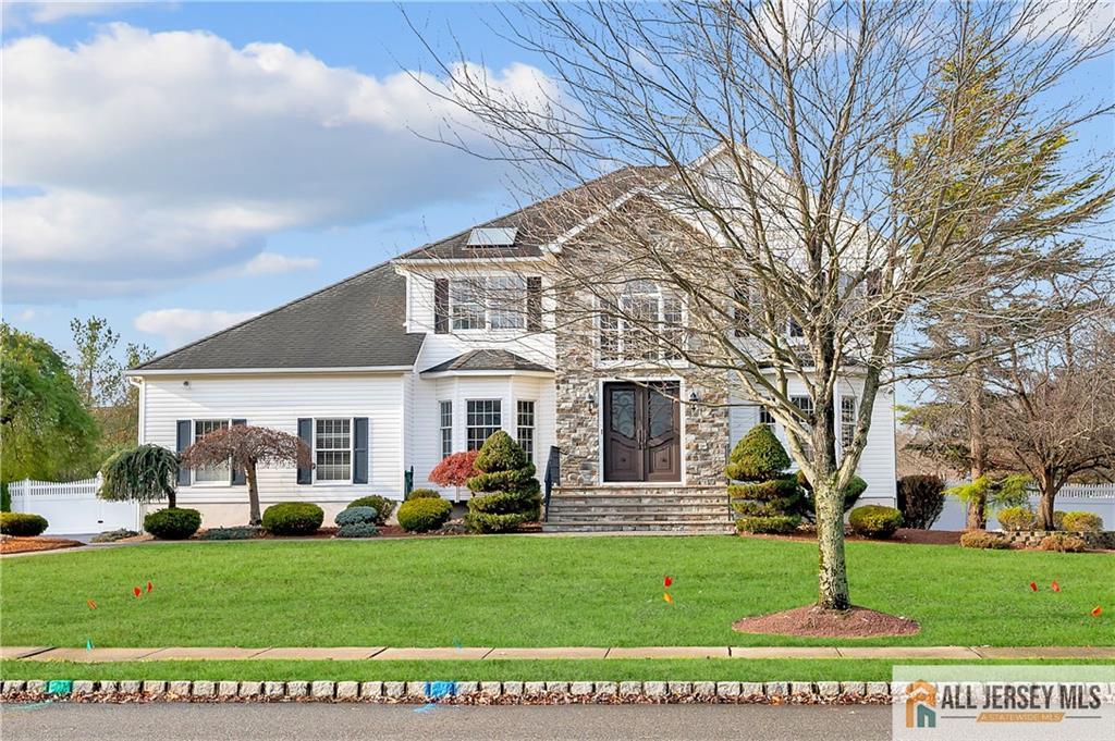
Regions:
<instances>
[{"instance_id":1,"label":"upper dark shingle roof slope with the skylight","mask_svg":"<svg viewBox=\"0 0 1115 741\"><path fill-rule=\"evenodd\" d=\"M399 260L462 260L474 257L537 257L540 247L550 244L585 218L600 204L619 198L639 185L661 181L665 167L623 167L580 186L563 191L518 211L471 226L438 242L424 244ZM579 207L582 206L582 207ZM517 230L512 246L468 246L474 228Z\"/></svg>"}]
</instances>

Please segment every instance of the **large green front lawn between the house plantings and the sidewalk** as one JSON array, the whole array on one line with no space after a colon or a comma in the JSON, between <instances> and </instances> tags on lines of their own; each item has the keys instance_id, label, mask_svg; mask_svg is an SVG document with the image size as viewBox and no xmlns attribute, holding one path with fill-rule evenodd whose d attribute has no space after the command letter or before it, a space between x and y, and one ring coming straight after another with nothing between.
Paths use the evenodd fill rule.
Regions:
<instances>
[{"instance_id":1,"label":"large green front lawn between the house plantings and the sidewalk","mask_svg":"<svg viewBox=\"0 0 1115 741\"><path fill-rule=\"evenodd\" d=\"M862 644L1113 644L1109 555L847 550L853 601L922 625L915 636ZM741 616L812 602L815 567L809 543L731 537L118 547L4 559L0 635L6 645L55 646L854 644L731 631ZM673 605L662 601L665 574ZM155 591L133 597L148 579ZM1089 616L1095 605L1102 617Z\"/></svg>"}]
</instances>

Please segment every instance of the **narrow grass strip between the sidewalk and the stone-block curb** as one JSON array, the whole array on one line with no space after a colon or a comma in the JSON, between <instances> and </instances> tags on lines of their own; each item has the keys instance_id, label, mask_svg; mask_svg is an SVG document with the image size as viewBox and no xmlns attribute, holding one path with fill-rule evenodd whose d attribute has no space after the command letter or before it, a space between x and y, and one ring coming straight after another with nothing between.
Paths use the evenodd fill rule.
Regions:
<instances>
[{"instance_id":1,"label":"narrow grass strip between the sidewalk and the stone-block curb","mask_svg":"<svg viewBox=\"0 0 1115 741\"><path fill-rule=\"evenodd\" d=\"M892 664L949 664L948 661L860 660L605 660L605 661L159 661L81 664L0 662L6 680L211 680L282 682L889 682ZM987 664L1102 664L1090 661L999 662Z\"/></svg>"}]
</instances>

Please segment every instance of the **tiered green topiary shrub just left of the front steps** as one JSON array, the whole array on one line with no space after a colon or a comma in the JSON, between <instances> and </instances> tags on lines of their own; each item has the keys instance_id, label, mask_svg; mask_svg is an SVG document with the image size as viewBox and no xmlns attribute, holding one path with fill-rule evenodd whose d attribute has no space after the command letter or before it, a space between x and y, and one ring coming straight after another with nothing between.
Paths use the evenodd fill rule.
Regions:
<instances>
[{"instance_id":1,"label":"tiered green topiary shrub just left of the front steps","mask_svg":"<svg viewBox=\"0 0 1115 741\"><path fill-rule=\"evenodd\" d=\"M510 435L500 430L484 441L476 469L481 472L468 479L474 495L465 515L469 530L508 533L539 518L542 497L534 464Z\"/></svg>"}]
</instances>

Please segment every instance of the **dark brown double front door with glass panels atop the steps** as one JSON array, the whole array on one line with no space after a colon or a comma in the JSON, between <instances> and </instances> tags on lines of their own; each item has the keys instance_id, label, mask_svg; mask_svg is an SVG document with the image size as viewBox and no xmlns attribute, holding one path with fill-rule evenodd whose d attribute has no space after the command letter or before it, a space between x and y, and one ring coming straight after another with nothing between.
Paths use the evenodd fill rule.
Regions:
<instances>
[{"instance_id":1,"label":"dark brown double front door with glass panels atop the steps","mask_svg":"<svg viewBox=\"0 0 1115 741\"><path fill-rule=\"evenodd\" d=\"M604 384L604 480L680 481L678 382Z\"/></svg>"}]
</instances>

